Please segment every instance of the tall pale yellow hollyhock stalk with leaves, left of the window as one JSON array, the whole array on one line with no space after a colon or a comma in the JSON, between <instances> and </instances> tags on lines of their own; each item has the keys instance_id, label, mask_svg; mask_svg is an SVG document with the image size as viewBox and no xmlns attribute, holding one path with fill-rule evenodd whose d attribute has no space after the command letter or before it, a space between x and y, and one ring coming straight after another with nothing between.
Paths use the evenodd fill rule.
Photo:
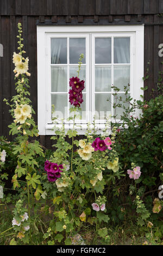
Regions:
<instances>
[{"instance_id":1,"label":"tall pale yellow hollyhock stalk with leaves, left of the window","mask_svg":"<svg viewBox=\"0 0 163 256\"><path fill-rule=\"evenodd\" d=\"M9 125L9 134L17 135L17 144L14 147L13 153L17 155L17 168L15 169L15 175L12 177L14 189L20 187L17 178L22 175L26 175L27 182L27 196L28 196L28 215L30 216L30 192L35 190L36 199L39 198L39 194L43 193L40 185L40 175L36 174L36 167L39 167L35 158L36 154L44 156L43 149L38 141L31 143L30 137L39 136L37 126L33 119L34 109L32 108L31 101L29 99L29 79L30 73L28 72L29 58L24 58L23 54L26 52L23 50L23 38L22 38L22 25L18 23L18 53L13 54L13 63L15 65L15 89L16 95L12 96L11 103L4 99L7 105L10 106L10 113L14 118L14 122ZM13 102L13 103L12 103ZM32 192L33 193L33 192Z\"/></svg>"}]
</instances>

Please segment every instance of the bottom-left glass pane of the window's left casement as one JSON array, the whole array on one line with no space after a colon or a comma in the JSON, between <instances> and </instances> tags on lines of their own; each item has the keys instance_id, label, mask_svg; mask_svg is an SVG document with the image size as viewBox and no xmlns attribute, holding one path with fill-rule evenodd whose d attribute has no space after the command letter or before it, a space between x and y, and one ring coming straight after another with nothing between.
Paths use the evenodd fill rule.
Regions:
<instances>
[{"instance_id":1,"label":"bottom-left glass pane of the window's left casement","mask_svg":"<svg viewBox=\"0 0 163 256\"><path fill-rule=\"evenodd\" d=\"M67 94L52 94L52 105L54 105L53 117L59 119L67 117Z\"/></svg>"}]
</instances>

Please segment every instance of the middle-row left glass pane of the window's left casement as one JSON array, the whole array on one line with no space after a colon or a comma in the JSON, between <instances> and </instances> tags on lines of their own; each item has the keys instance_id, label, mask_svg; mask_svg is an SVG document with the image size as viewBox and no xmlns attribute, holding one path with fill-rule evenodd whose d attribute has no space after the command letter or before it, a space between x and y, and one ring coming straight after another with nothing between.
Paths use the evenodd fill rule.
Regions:
<instances>
[{"instance_id":1,"label":"middle-row left glass pane of the window's left casement","mask_svg":"<svg viewBox=\"0 0 163 256\"><path fill-rule=\"evenodd\" d=\"M67 67L51 66L52 92L67 92Z\"/></svg>"}]
</instances>

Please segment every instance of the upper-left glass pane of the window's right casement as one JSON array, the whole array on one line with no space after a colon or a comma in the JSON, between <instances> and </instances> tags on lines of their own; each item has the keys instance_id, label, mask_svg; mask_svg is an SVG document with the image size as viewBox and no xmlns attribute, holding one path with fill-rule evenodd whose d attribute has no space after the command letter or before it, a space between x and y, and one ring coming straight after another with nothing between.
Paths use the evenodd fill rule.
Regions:
<instances>
[{"instance_id":1,"label":"upper-left glass pane of the window's right casement","mask_svg":"<svg viewBox=\"0 0 163 256\"><path fill-rule=\"evenodd\" d=\"M95 39L95 63L111 63L111 38Z\"/></svg>"}]
</instances>

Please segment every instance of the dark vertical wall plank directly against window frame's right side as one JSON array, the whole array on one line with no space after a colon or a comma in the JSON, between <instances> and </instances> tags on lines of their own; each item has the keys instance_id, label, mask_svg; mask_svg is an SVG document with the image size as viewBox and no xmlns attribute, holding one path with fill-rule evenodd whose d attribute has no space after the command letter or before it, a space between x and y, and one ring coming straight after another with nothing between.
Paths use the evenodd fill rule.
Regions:
<instances>
[{"instance_id":1,"label":"dark vertical wall plank directly against window frame's right side","mask_svg":"<svg viewBox=\"0 0 163 256\"><path fill-rule=\"evenodd\" d=\"M153 15L145 16L145 23L153 22ZM145 81L145 87L148 86L148 90L145 91L145 100L151 98L152 88L154 87L154 76L153 76L153 26L145 25L145 70L146 74L147 68L149 68L148 75L149 78ZM150 64L148 65L148 62Z\"/></svg>"}]
</instances>

